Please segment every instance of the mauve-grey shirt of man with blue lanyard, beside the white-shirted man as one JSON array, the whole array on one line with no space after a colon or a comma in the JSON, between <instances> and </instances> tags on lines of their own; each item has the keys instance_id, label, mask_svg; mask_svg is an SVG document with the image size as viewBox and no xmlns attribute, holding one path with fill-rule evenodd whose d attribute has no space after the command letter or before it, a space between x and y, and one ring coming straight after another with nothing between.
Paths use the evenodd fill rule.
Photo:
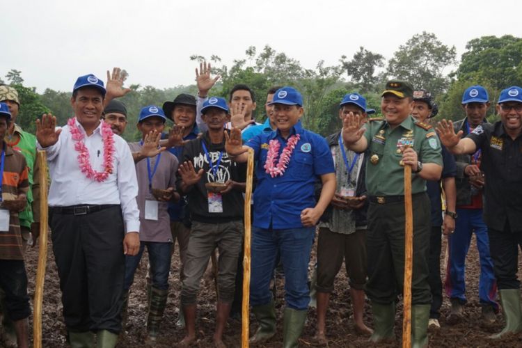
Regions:
<instances>
[{"instance_id":1,"label":"mauve-grey shirt of man with blue lanyard, beside the white-shirted man","mask_svg":"<svg viewBox=\"0 0 522 348\"><path fill-rule=\"evenodd\" d=\"M129 143L132 152L141 151L141 143ZM149 165L147 165L147 161ZM158 162L159 161L159 162ZM157 163L157 166L156 166ZM138 207L140 209L140 240L143 242L171 243L171 219L168 216L168 203L157 201L149 191L149 169L152 175L152 189L176 188L177 158L170 152L164 151L160 155L142 159L136 163L136 176L138 177ZM157 201L157 220L145 219L145 200Z\"/></svg>"}]
</instances>

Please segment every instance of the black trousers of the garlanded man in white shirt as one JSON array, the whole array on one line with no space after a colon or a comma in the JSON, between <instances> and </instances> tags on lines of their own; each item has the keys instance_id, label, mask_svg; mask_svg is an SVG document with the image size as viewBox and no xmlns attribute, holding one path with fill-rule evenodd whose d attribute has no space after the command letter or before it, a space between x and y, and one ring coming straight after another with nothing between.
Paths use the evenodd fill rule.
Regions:
<instances>
[{"instance_id":1,"label":"black trousers of the garlanded man in white shirt","mask_svg":"<svg viewBox=\"0 0 522 348\"><path fill-rule=\"evenodd\" d=\"M125 276L120 206L77 216L50 212L65 326L119 333Z\"/></svg>"}]
</instances>

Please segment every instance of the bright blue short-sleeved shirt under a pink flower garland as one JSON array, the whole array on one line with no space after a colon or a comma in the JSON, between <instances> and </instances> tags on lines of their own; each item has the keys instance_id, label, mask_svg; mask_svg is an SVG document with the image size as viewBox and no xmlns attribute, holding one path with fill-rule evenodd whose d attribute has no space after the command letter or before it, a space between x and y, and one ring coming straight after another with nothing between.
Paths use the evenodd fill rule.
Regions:
<instances>
[{"instance_id":1,"label":"bright blue short-sleeved shirt under a pink flower garland","mask_svg":"<svg viewBox=\"0 0 522 348\"><path fill-rule=\"evenodd\" d=\"M301 122L292 127L290 134L300 134L301 139L292 152L285 173L276 177L271 177L264 170L269 142L279 141L280 157L287 139L277 130L259 134L246 143L253 148L257 160L253 223L257 228L302 228L301 212L316 205L315 182L320 180L320 175L335 173L330 149L322 136L303 129Z\"/></svg>"}]
</instances>

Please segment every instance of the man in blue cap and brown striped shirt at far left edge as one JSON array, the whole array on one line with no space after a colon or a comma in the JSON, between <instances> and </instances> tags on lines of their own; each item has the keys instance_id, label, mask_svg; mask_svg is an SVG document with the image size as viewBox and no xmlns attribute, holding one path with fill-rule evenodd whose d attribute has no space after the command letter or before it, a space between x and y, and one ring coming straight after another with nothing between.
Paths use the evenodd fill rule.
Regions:
<instances>
[{"instance_id":1,"label":"man in blue cap and brown striped shirt at far left edge","mask_svg":"<svg viewBox=\"0 0 522 348\"><path fill-rule=\"evenodd\" d=\"M0 102L0 289L5 293L3 315L13 322L17 347L26 348L31 307L18 214L27 204L29 172L24 155L13 151L3 140L10 119L8 105Z\"/></svg>"}]
</instances>

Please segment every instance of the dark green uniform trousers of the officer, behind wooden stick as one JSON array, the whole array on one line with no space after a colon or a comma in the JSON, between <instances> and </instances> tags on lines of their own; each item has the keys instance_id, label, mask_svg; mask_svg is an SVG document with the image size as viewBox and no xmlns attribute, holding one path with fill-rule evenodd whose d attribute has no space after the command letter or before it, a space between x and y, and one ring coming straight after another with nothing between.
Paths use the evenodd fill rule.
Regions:
<instances>
[{"instance_id":1,"label":"dark green uniform trousers of the officer, behind wooden stick","mask_svg":"<svg viewBox=\"0 0 522 348\"><path fill-rule=\"evenodd\" d=\"M370 300L388 304L404 287L404 202L370 203L366 252ZM428 283L430 203L426 194L413 195L413 274L411 303L428 304L432 294Z\"/></svg>"}]
</instances>

